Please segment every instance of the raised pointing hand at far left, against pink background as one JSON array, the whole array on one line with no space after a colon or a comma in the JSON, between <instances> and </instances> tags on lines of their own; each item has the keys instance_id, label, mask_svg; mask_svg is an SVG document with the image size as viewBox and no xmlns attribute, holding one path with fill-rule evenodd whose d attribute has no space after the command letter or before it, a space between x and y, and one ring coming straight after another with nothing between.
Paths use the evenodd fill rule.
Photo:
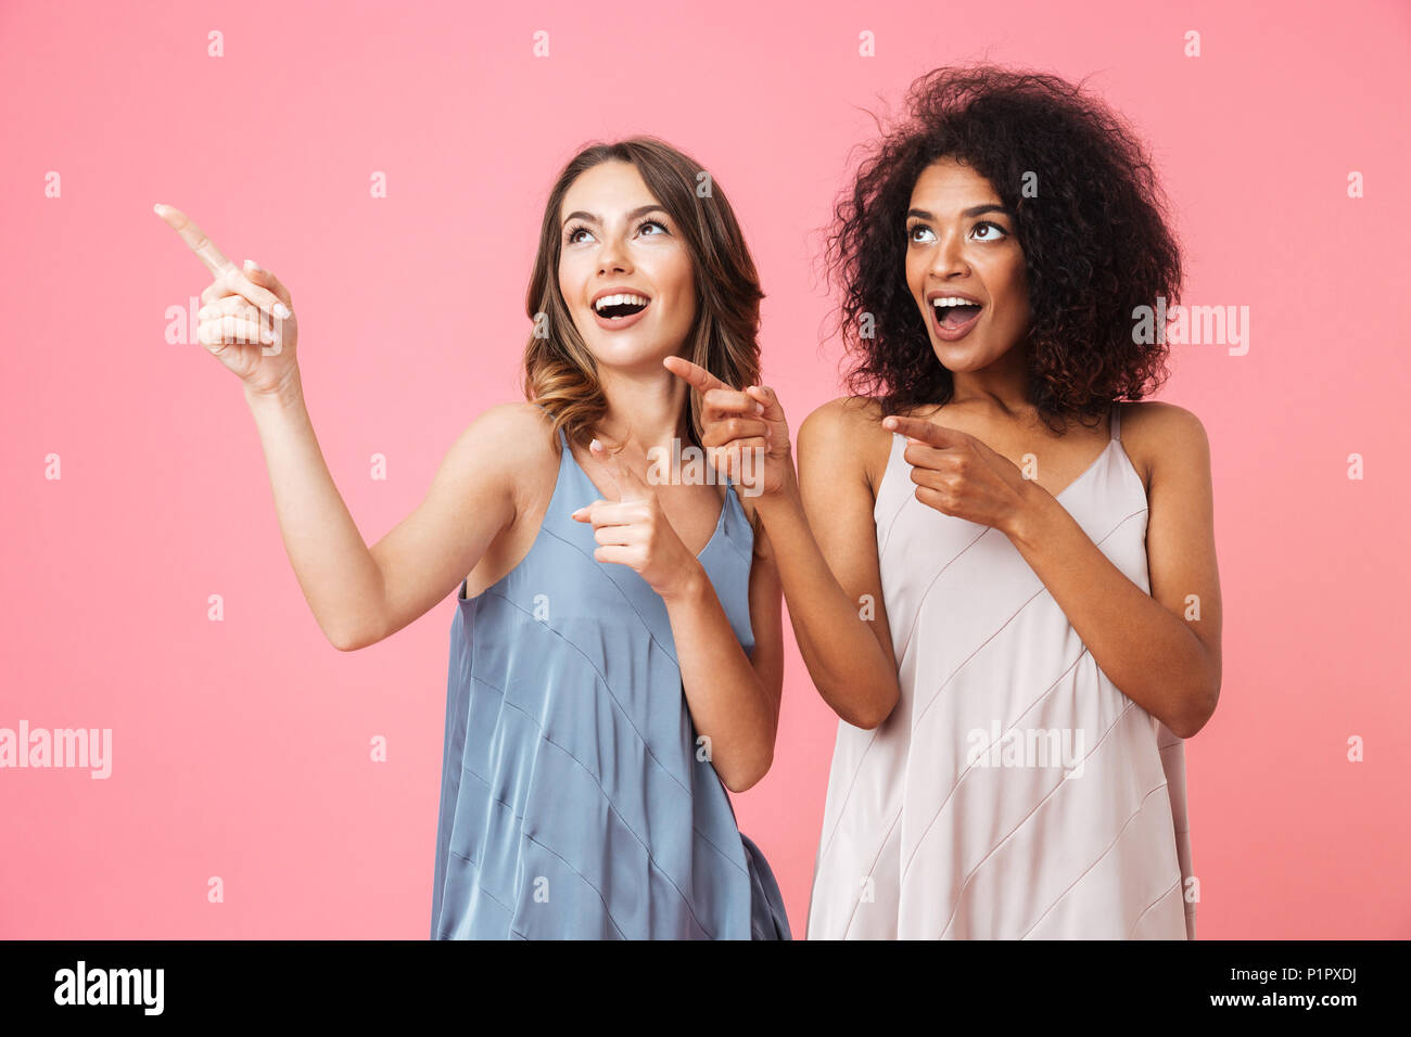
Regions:
<instances>
[{"instance_id":1,"label":"raised pointing hand at far left, against pink background","mask_svg":"<svg viewBox=\"0 0 1411 1037\"><path fill-rule=\"evenodd\" d=\"M200 293L196 340L246 384L247 396L277 396L298 385L299 319L274 274L246 260L241 269L179 209L154 210L214 275Z\"/></svg>"}]
</instances>

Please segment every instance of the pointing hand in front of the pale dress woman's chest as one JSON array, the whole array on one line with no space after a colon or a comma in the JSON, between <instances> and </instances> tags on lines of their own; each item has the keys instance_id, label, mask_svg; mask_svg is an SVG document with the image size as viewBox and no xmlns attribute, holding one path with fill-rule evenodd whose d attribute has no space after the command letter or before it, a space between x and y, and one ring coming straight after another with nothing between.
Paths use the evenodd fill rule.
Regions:
<instances>
[{"instance_id":1,"label":"pointing hand in front of the pale dress woman's chest","mask_svg":"<svg viewBox=\"0 0 1411 1037\"><path fill-rule=\"evenodd\" d=\"M1006 536L1017 528L1036 484L1012 460L968 432L920 418L886 418L882 427L910 440L903 456L912 466L916 499L921 504L943 515L993 526Z\"/></svg>"}]
</instances>

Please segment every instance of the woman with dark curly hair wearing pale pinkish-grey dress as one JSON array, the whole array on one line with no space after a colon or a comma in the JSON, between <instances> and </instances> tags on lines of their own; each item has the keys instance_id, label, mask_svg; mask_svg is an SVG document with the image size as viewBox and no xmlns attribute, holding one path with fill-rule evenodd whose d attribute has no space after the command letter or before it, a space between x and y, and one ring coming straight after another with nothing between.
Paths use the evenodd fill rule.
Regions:
<instances>
[{"instance_id":1,"label":"woman with dark curly hair wearing pale pinkish-grey dress","mask_svg":"<svg viewBox=\"0 0 1411 1037\"><path fill-rule=\"evenodd\" d=\"M744 394L840 717L809 937L1194 938L1182 739L1221 595L1204 427L1137 402L1165 344L1134 319L1181 285L1160 188L1058 78L943 68L909 102L828 238L856 395L803 423L796 475L777 399ZM729 451L741 394L690 377Z\"/></svg>"}]
</instances>

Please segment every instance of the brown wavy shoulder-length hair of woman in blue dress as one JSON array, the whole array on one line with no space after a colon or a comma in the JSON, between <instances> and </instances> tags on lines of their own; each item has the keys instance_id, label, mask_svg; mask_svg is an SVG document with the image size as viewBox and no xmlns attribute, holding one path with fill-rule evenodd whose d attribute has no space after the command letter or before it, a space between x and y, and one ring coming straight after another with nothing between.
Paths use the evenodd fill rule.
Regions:
<instances>
[{"instance_id":1,"label":"brown wavy shoulder-length hair of woman in blue dress","mask_svg":"<svg viewBox=\"0 0 1411 1037\"><path fill-rule=\"evenodd\" d=\"M591 144L569 161L549 192L539 254L525 292L525 313L535 322L535 332L543 334L532 332L525 346L523 394L553 418L555 453L560 427L570 442L587 447L608 409L597 361L559 291L559 255L564 195L583 172L614 161L636 166L690 251L697 308L682 356L734 388L759 380L759 302L765 295L720 183L700 162L655 137ZM700 394L694 388L687 408L691 444L703 447Z\"/></svg>"}]
</instances>

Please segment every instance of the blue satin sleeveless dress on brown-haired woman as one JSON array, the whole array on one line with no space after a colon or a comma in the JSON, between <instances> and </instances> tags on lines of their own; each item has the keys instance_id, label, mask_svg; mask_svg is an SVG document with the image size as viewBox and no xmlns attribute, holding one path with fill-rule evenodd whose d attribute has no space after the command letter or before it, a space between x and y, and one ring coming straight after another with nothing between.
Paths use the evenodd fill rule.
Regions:
<instances>
[{"instance_id":1,"label":"blue satin sleeveless dress on brown-haired woman","mask_svg":"<svg viewBox=\"0 0 1411 1037\"><path fill-rule=\"evenodd\" d=\"M432 938L787 940L769 863L704 753L662 598L600 563L563 432L529 554L450 631ZM698 556L746 655L753 530L734 490Z\"/></svg>"}]
</instances>

